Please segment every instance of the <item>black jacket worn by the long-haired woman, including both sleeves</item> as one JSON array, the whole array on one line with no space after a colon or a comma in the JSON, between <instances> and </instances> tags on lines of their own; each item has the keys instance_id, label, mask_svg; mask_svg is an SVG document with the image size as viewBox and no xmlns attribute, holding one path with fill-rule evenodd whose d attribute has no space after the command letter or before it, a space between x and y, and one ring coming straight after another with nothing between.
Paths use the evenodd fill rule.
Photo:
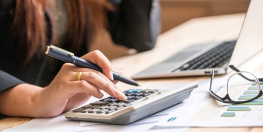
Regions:
<instances>
[{"instance_id":1,"label":"black jacket worn by the long-haired woman, including both sleeves","mask_svg":"<svg viewBox=\"0 0 263 132\"><path fill-rule=\"evenodd\" d=\"M107 13L109 32L118 45L133 48L139 52L154 47L160 31L160 6L157 0L109 0L116 5L116 12ZM20 83L47 86L56 76L64 62L54 60L47 64L48 56L44 53L34 56L22 67L17 60L18 41L11 37L10 29L14 21L15 0L0 1L0 92ZM46 13L49 23L49 13ZM52 26L50 26L52 28ZM51 31L48 29L48 31ZM52 37L52 36L48 36ZM47 43L51 45L51 43ZM64 49L63 47L61 47ZM84 43L76 56L82 56L89 50Z\"/></svg>"}]
</instances>

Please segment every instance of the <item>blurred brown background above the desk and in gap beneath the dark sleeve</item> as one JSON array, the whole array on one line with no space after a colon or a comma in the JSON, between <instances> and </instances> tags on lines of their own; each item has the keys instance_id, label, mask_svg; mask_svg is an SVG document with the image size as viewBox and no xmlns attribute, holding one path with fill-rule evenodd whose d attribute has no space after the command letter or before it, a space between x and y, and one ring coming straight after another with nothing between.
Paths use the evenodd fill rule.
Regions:
<instances>
[{"instance_id":1,"label":"blurred brown background above the desk and in gap beneath the dark sleeve","mask_svg":"<svg viewBox=\"0 0 263 132\"><path fill-rule=\"evenodd\" d=\"M192 18L246 13L250 0L159 0L161 5L161 33ZM108 59L127 55L131 51L114 45L109 34L102 31L105 39L97 39L92 50L100 50ZM109 50L110 49L110 50Z\"/></svg>"}]
</instances>

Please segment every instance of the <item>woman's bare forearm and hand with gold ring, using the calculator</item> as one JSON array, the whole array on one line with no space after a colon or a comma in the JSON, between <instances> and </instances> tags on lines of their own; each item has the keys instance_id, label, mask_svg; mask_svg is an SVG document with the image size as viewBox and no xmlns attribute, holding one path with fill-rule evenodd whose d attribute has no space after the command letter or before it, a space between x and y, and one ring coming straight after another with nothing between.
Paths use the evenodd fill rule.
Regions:
<instances>
[{"instance_id":1,"label":"woman's bare forearm and hand with gold ring, using the calculator","mask_svg":"<svg viewBox=\"0 0 263 132\"><path fill-rule=\"evenodd\" d=\"M0 108L0 113L11 116L54 117L85 103L91 96L102 98L100 90L118 100L127 99L111 81L111 64L101 52L93 51L81 58L100 66L103 73L65 63L50 85L44 89L31 84L19 84L1 92L0 103L3 107ZM80 80L76 80L77 72L82 72Z\"/></svg>"}]
</instances>

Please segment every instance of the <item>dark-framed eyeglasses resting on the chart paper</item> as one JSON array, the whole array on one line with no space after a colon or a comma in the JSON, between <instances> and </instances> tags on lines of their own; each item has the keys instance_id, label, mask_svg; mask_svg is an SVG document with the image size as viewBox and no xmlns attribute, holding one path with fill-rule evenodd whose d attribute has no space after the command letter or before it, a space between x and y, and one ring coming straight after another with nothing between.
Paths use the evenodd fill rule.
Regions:
<instances>
[{"instance_id":1,"label":"dark-framed eyeglasses resting on the chart paper","mask_svg":"<svg viewBox=\"0 0 263 132\"><path fill-rule=\"evenodd\" d=\"M263 78L257 78L250 72L240 71L233 65L229 67L236 73L228 78L227 94L223 98L211 90L214 77L214 71L212 70L209 94L213 99L228 104L240 104L251 102L262 96L259 81L263 81Z\"/></svg>"}]
</instances>

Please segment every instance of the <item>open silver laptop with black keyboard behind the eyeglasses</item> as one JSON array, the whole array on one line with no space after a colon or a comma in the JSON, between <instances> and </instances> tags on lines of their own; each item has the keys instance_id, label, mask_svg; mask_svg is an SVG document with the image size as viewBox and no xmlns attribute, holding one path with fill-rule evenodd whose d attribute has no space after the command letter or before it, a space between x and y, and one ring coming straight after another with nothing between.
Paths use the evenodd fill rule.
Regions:
<instances>
[{"instance_id":1,"label":"open silver laptop with black keyboard behind the eyeglasses","mask_svg":"<svg viewBox=\"0 0 263 132\"><path fill-rule=\"evenodd\" d=\"M263 1L251 0L237 40L190 46L131 76L133 79L226 74L263 49Z\"/></svg>"}]
</instances>

